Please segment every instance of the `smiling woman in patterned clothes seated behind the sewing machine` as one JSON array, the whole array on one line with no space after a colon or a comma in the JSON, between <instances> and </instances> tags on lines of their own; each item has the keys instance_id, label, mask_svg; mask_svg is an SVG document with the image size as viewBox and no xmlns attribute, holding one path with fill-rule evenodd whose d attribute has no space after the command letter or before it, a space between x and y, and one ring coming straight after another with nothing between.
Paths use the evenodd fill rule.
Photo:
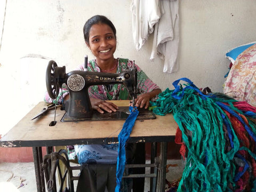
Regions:
<instances>
[{"instance_id":1,"label":"smiling woman in patterned clothes seated behind the sewing machine","mask_svg":"<svg viewBox=\"0 0 256 192\"><path fill-rule=\"evenodd\" d=\"M137 90L139 95L135 99L134 105L147 109L149 101L156 97L161 89L133 61L114 57L116 29L113 23L103 15L95 15L85 22L83 32L85 43L95 57L95 59L87 62L87 71L122 73L124 70L135 66L137 68ZM85 70L85 66L79 66L78 70ZM66 92L67 90L64 91L63 97L67 100L69 98L68 92ZM92 108L101 114L113 113L118 110L115 103L110 100L132 99L123 84L94 85L89 87L88 92ZM62 97L59 95L57 98L61 99ZM49 97L46 97L46 101L52 102ZM61 103L62 101L59 100L58 102ZM74 148L78 163L82 166L76 191L104 192L105 188L108 191L115 191L118 144L76 145ZM145 143L129 143L126 145L126 164L136 163L145 163ZM135 173L133 169L129 169L129 172L134 174L143 174L145 169L142 168L142 170L136 171ZM143 191L144 178L124 178L122 187L122 191Z\"/></svg>"}]
</instances>

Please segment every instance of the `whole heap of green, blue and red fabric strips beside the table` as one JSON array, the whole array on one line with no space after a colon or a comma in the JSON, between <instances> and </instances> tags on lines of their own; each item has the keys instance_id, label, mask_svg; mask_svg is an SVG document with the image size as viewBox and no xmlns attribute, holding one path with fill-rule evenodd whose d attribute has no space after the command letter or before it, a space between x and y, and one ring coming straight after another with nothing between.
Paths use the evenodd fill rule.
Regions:
<instances>
[{"instance_id":1,"label":"whole heap of green, blue and red fabric strips beside the table","mask_svg":"<svg viewBox=\"0 0 256 192\"><path fill-rule=\"evenodd\" d=\"M256 108L223 93L204 94L188 78L173 85L151 106L157 115L173 114L175 142L187 151L177 191L256 191Z\"/></svg>"}]
</instances>

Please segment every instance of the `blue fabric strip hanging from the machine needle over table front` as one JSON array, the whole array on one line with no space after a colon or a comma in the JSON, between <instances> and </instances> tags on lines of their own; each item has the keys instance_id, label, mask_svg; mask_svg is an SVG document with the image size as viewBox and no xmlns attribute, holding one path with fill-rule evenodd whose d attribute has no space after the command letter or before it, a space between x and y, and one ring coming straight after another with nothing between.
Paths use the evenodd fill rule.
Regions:
<instances>
[{"instance_id":1,"label":"blue fabric strip hanging from the machine needle over table front","mask_svg":"<svg viewBox=\"0 0 256 192\"><path fill-rule=\"evenodd\" d=\"M133 107L129 107L130 115L127 117L124 122L123 129L118 135L118 156L117 156L117 165L116 165L116 188L115 192L121 191L122 177L124 174L125 167L125 143L130 137L132 132L132 127L136 121L136 118L139 114L138 109L133 110Z\"/></svg>"}]
</instances>

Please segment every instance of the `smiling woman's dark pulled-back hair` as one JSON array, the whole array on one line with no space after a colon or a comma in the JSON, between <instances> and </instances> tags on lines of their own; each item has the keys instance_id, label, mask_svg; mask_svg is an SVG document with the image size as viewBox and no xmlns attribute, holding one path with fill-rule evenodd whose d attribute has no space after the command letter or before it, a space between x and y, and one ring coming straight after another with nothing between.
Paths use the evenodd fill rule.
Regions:
<instances>
[{"instance_id":1,"label":"smiling woman's dark pulled-back hair","mask_svg":"<svg viewBox=\"0 0 256 192\"><path fill-rule=\"evenodd\" d=\"M90 33L91 27L94 24L100 24L100 23L108 25L113 30L114 36L116 38L116 28L113 25L113 23L103 15L94 15L93 17L88 19L84 24L83 31L84 31L84 40L86 44L89 45L89 33Z\"/></svg>"}]
</instances>

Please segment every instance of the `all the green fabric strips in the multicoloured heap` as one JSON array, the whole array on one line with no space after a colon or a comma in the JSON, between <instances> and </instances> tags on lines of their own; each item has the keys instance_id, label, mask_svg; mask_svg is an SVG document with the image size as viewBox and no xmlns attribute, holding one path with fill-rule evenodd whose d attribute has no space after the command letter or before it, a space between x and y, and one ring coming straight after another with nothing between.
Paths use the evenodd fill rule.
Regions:
<instances>
[{"instance_id":1,"label":"all the green fabric strips in the multicoloured heap","mask_svg":"<svg viewBox=\"0 0 256 192\"><path fill-rule=\"evenodd\" d=\"M187 85L186 85L187 86ZM242 111L234 107L236 100L223 94L218 97L204 97L194 89L183 89L180 85L181 99L172 97L174 90L166 89L158 95L159 99L150 102L152 110L157 115L172 113L182 132L182 140L187 147L187 164L182 174L178 191L233 191L237 172L234 157L239 150L246 150L254 159L254 151L241 147L234 127L226 111L217 105L217 101L226 103L237 114ZM223 118L226 123L224 123ZM255 133L255 119L247 118ZM230 132L227 127L230 127ZM233 147L230 147L232 135ZM252 182L252 191L256 182Z\"/></svg>"}]
</instances>

